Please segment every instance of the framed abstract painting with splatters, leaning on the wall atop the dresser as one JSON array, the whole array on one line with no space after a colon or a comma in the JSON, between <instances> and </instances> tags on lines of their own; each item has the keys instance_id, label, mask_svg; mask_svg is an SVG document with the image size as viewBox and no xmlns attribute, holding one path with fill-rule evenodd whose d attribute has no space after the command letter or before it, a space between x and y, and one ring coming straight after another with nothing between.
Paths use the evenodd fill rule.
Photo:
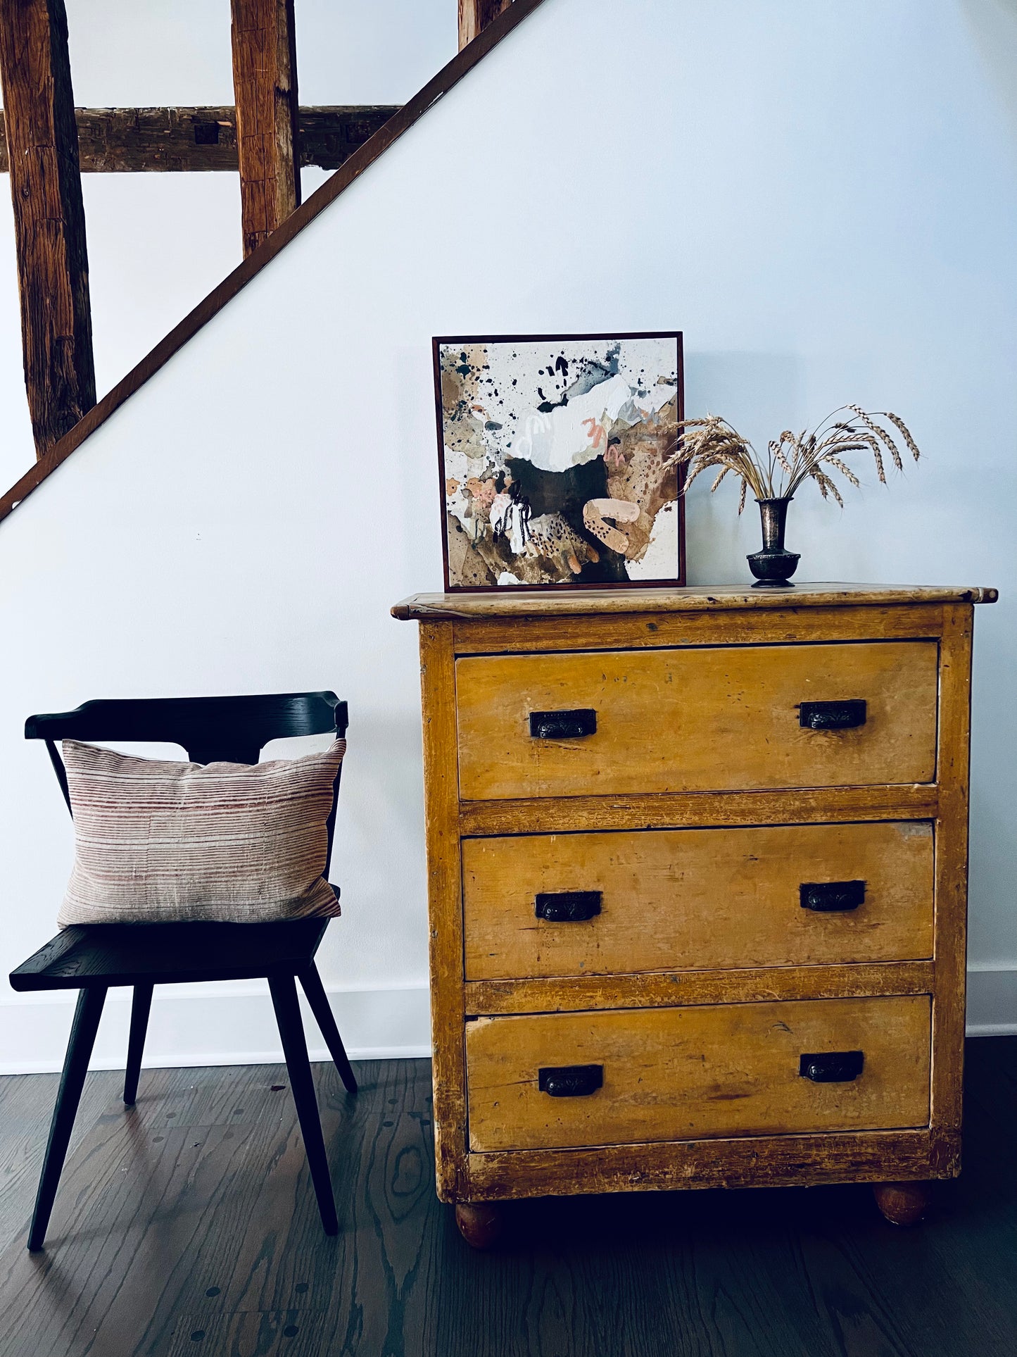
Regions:
<instances>
[{"instance_id":1,"label":"framed abstract painting with splatters, leaning on the wall atop the dresser","mask_svg":"<svg viewBox=\"0 0 1017 1357\"><path fill-rule=\"evenodd\" d=\"M434 339L445 588L685 582L682 337Z\"/></svg>"}]
</instances>

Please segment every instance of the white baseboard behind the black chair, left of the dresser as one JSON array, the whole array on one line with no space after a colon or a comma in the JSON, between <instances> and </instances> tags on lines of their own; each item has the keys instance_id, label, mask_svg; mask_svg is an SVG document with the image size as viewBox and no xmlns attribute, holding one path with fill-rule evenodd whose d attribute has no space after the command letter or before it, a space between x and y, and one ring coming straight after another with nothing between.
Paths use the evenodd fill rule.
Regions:
<instances>
[{"instance_id":1,"label":"white baseboard behind the black chair, left of the dresser","mask_svg":"<svg viewBox=\"0 0 1017 1357\"><path fill-rule=\"evenodd\" d=\"M76 999L76 991L1 999L0 1073L60 1069ZM328 1000L351 1060L430 1056L426 984L395 989L331 988ZM308 1054L312 1060L328 1060L317 1023L302 996L301 1007ZM95 1039L92 1069L123 1068L129 1020L130 991L111 991ZM156 988L145 1041L145 1068L281 1063L275 1015L263 981L232 981L214 989L202 985Z\"/></svg>"}]
</instances>

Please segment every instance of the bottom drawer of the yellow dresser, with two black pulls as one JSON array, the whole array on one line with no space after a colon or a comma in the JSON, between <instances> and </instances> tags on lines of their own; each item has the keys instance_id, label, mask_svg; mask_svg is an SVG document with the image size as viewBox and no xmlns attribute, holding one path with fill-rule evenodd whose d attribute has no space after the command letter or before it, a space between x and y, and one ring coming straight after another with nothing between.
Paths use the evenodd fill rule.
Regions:
<instances>
[{"instance_id":1,"label":"bottom drawer of the yellow dresser, with two black pulls","mask_svg":"<svg viewBox=\"0 0 1017 1357\"><path fill-rule=\"evenodd\" d=\"M469 1147L922 1126L930 1039L928 995L480 1018Z\"/></svg>"}]
</instances>

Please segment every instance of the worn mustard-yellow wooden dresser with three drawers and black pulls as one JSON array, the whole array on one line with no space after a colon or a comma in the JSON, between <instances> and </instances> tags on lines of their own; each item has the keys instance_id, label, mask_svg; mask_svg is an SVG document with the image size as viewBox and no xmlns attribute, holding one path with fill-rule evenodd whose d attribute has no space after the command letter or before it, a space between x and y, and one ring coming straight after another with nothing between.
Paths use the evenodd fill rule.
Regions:
<instances>
[{"instance_id":1,"label":"worn mustard-yellow wooden dresser with three drawers and black pulls","mask_svg":"<svg viewBox=\"0 0 1017 1357\"><path fill-rule=\"evenodd\" d=\"M960 1163L991 589L418 594L438 1196Z\"/></svg>"}]
</instances>

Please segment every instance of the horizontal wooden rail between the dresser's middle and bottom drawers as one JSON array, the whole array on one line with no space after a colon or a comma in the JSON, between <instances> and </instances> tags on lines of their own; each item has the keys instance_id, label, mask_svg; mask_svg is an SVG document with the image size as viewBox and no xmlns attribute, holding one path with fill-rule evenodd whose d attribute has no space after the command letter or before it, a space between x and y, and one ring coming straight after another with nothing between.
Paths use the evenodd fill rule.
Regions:
<instances>
[{"instance_id":1,"label":"horizontal wooden rail between the dresser's middle and bottom drawers","mask_svg":"<svg viewBox=\"0 0 1017 1357\"><path fill-rule=\"evenodd\" d=\"M472 1016L494 1016L579 1012L590 1008L755 1003L767 999L928 995L933 992L934 982L936 963L932 961L660 970L641 976L555 976L548 980L475 980L465 987L465 1008Z\"/></svg>"}]
</instances>

